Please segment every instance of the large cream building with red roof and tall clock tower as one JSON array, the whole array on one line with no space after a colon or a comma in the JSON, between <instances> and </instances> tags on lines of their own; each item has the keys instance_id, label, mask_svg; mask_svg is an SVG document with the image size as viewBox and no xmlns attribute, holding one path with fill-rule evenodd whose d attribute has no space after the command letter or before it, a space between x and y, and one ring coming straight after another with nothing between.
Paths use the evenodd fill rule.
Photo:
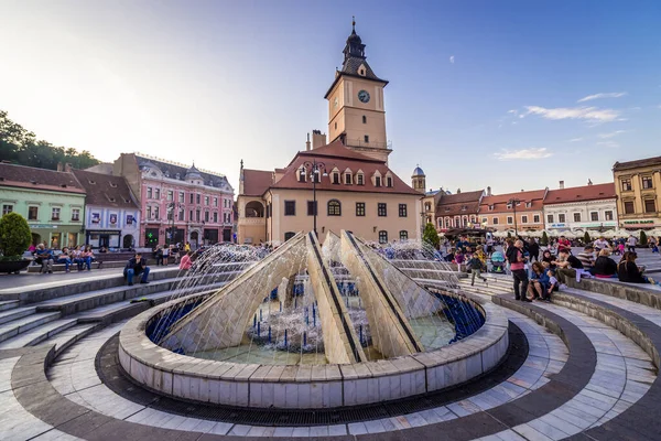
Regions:
<instances>
[{"instance_id":1,"label":"large cream building with red roof and tall clock tower","mask_svg":"<svg viewBox=\"0 0 661 441\"><path fill-rule=\"evenodd\" d=\"M340 229L388 243L420 237L422 194L388 166L383 87L355 23L344 63L325 98L328 133L312 133L283 169L245 169L239 179L238 243L281 243L315 229Z\"/></svg>"}]
</instances>

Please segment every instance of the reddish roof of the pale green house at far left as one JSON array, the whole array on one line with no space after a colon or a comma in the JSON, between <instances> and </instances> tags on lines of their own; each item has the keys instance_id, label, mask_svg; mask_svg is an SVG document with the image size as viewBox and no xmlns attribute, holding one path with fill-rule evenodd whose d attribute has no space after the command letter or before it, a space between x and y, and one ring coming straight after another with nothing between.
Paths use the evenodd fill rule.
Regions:
<instances>
[{"instance_id":1,"label":"reddish roof of the pale green house at far left","mask_svg":"<svg viewBox=\"0 0 661 441\"><path fill-rule=\"evenodd\" d=\"M0 163L0 185L85 194L73 173Z\"/></svg>"}]
</instances>

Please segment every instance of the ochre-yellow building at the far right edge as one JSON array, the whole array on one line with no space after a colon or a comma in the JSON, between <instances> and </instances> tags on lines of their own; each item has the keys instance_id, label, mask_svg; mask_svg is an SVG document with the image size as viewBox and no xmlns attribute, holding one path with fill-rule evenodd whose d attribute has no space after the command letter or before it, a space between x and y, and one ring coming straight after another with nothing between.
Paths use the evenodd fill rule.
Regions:
<instances>
[{"instance_id":1,"label":"ochre-yellow building at the far right edge","mask_svg":"<svg viewBox=\"0 0 661 441\"><path fill-rule=\"evenodd\" d=\"M620 227L661 226L661 157L613 165Z\"/></svg>"}]
</instances>

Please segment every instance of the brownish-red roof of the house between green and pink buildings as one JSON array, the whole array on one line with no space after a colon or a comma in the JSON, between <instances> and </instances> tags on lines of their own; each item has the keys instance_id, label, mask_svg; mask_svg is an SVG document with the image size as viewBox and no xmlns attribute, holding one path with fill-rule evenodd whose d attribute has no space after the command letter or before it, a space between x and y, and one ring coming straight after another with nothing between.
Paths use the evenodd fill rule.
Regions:
<instances>
[{"instance_id":1,"label":"brownish-red roof of the house between green and pink buildings","mask_svg":"<svg viewBox=\"0 0 661 441\"><path fill-rule=\"evenodd\" d=\"M87 193L85 196L87 204L137 208L123 176L94 173L86 170L74 170L74 174Z\"/></svg>"}]
</instances>

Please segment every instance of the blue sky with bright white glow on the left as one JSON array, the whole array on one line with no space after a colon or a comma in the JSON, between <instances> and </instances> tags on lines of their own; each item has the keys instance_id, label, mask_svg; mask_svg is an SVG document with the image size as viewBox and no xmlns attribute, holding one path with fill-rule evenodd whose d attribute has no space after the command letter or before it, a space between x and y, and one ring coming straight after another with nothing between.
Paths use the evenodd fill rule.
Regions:
<instances>
[{"instance_id":1,"label":"blue sky with bright white glow on the left","mask_svg":"<svg viewBox=\"0 0 661 441\"><path fill-rule=\"evenodd\" d=\"M0 0L0 109L102 161L272 170L327 132L356 15L390 168L494 193L661 154L660 1Z\"/></svg>"}]
</instances>

